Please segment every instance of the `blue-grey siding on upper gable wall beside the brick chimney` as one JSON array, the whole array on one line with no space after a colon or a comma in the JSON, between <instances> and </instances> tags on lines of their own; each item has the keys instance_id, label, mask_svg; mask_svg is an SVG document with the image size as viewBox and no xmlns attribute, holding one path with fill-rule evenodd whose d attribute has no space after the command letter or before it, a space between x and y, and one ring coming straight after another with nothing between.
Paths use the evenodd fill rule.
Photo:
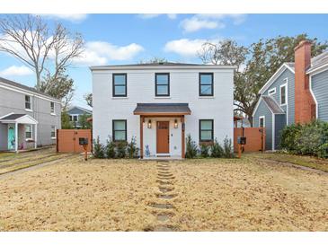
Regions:
<instances>
[{"instance_id":1,"label":"blue-grey siding on upper gable wall beside the brick chimney","mask_svg":"<svg viewBox=\"0 0 328 246\"><path fill-rule=\"evenodd\" d=\"M268 92L276 88L276 94L272 97L280 104L280 85L288 79L288 125L295 122L295 75L289 69L282 72L281 75L270 85L269 89L263 92L263 95L268 95ZM287 112L287 106L281 106Z\"/></svg>"}]
</instances>

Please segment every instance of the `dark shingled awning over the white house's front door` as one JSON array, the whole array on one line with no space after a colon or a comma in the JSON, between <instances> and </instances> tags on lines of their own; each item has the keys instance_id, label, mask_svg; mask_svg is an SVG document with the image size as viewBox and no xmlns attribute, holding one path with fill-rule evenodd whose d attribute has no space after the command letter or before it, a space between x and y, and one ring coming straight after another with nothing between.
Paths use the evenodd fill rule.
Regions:
<instances>
[{"instance_id":1,"label":"dark shingled awning over the white house's front door","mask_svg":"<svg viewBox=\"0 0 328 246\"><path fill-rule=\"evenodd\" d=\"M143 116L181 116L190 115L188 103L137 103L133 111L135 115Z\"/></svg>"}]
</instances>

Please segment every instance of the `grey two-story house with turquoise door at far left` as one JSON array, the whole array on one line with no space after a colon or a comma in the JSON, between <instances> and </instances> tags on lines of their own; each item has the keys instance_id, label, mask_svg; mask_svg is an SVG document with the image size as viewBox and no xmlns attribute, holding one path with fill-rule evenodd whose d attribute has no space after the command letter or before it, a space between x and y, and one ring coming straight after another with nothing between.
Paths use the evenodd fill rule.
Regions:
<instances>
[{"instance_id":1,"label":"grey two-story house with turquoise door at far left","mask_svg":"<svg viewBox=\"0 0 328 246\"><path fill-rule=\"evenodd\" d=\"M0 78L0 151L56 144L61 102L21 83Z\"/></svg>"}]
</instances>

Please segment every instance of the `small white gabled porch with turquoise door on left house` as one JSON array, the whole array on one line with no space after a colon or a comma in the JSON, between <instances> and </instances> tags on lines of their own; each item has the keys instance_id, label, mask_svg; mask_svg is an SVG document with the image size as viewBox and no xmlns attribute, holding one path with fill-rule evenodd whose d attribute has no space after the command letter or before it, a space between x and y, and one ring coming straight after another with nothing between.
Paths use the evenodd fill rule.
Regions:
<instances>
[{"instance_id":1,"label":"small white gabled porch with turquoise door on left house","mask_svg":"<svg viewBox=\"0 0 328 246\"><path fill-rule=\"evenodd\" d=\"M11 113L0 118L0 150L20 152L37 148L38 121L26 114Z\"/></svg>"}]
</instances>

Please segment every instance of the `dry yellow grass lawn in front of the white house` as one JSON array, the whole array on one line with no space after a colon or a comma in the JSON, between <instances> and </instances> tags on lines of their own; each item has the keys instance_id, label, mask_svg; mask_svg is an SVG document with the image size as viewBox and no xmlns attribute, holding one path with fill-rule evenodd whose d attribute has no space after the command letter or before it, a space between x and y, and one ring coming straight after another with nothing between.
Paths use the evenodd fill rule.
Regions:
<instances>
[{"instance_id":1,"label":"dry yellow grass lawn in front of the white house","mask_svg":"<svg viewBox=\"0 0 328 246\"><path fill-rule=\"evenodd\" d=\"M208 159L171 162L161 181L156 162L81 159L0 176L0 230L328 231L328 175Z\"/></svg>"}]
</instances>

